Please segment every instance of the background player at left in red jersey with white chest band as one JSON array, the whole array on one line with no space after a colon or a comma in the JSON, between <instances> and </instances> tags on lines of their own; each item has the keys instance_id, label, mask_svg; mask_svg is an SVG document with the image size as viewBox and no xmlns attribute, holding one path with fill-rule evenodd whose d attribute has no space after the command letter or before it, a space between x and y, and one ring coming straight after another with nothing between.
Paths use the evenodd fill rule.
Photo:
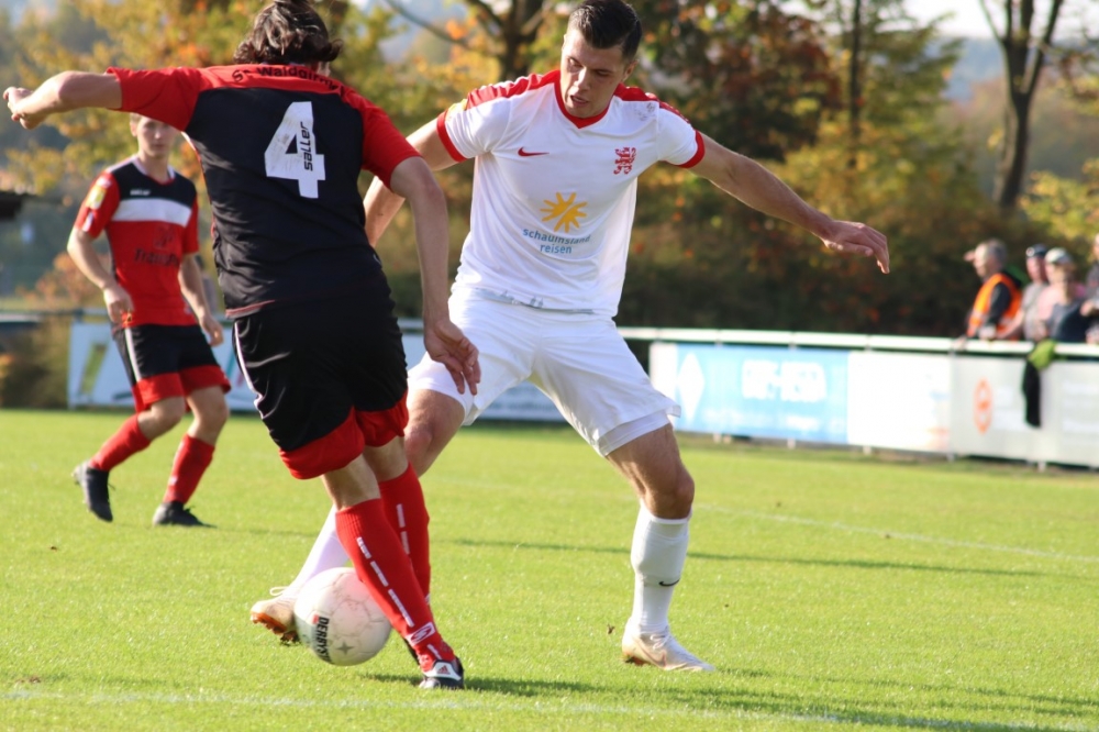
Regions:
<instances>
[{"instance_id":1,"label":"background player at left in red jersey with white chest band","mask_svg":"<svg viewBox=\"0 0 1099 732\"><path fill-rule=\"evenodd\" d=\"M185 504L213 459L229 418L229 380L210 348L224 335L211 314L198 264L195 184L168 164L179 131L140 114L130 115L130 131L137 138L137 154L100 174L77 214L68 252L103 291L137 413L73 477L84 489L88 510L113 520L110 472L175 428L190 408L195 420L176 451L153 524L203 526L208 524ZM110 270L93 247L103 232Z\"/></svg>"}]
</instances>

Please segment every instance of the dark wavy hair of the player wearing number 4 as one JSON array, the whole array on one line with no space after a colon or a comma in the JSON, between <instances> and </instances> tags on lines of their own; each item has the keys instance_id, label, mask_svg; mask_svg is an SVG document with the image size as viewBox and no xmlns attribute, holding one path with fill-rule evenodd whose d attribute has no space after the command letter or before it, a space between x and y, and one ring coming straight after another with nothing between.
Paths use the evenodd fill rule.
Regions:
<instances>
[{"instance_id":1,"label":"dark wavy hair of the player wearing number 4","mask_svg":"<svg viewBox=\"0 0 1099 732\"><path fill-rule=\"evenodd\" d=\"M256 14L252 31L236 47L237 64L328 64L343 44L329 38L329 29L310 0L275 0Z\"/></svg>"}]
</instances>

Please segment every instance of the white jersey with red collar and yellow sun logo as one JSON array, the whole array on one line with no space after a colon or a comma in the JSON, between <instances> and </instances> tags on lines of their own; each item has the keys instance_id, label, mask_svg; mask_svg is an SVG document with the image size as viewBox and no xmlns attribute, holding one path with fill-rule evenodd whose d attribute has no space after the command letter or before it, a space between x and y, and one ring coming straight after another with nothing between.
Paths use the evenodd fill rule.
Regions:
<instances>
[{"instance_id":1,"label":"white jersey with red collar and yellow sun logo","mask_svg":"<svg viewBox=\"0 0 1099 732\"><path fill-rule=\"evenodd\" d=\"M456 160L476 158L469 235L455 293L613 317L637 177L691 167L702 138L676 110L620 86L598 117L568 114L560 74L473 91L440 115Z\"/></svg>"}]
</instances>

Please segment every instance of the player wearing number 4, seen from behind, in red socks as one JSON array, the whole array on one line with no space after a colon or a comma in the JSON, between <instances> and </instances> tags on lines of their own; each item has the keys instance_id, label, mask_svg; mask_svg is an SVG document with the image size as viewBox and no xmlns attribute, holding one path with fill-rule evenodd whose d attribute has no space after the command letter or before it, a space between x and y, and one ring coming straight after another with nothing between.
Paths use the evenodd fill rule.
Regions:
<instances>
[{"instance_id":1,"label":"player wearing number 4, seen from behind, in red socks","mask_svg":"<svg viewBox=\"0 0 1099 732\"><path fill-rule=\"evenodd\" d=\"M411 204L424 345L459 391L480 378L477 350L449 319L443 192L380 109L324 76L338 54L308 0L276 0L256 15L235 66L67 71L33 91L9 88L4 99L27 129L55 112L101 107L187 133L210 192L225 312L260 417L290 473L324 484L340 541L413 650L420 686L460 688L462 663L425 597L428 514L404 456L404 353L366 237L362 169Z\"/></svg>"}]
</instances>

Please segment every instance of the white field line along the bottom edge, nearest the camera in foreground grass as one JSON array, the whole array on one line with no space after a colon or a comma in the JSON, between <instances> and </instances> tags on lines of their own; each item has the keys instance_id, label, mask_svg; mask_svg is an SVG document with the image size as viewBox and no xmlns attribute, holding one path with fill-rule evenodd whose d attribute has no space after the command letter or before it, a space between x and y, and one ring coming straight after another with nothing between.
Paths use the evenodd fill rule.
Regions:
<instances>
[{"instance_id":1,"label":"white field line along the bottom edge, nearest the camera in foreground grass","mask_svg":"<svg viewBox=\"0 0 1099 732\"><path fill-rule=\"evenodd\" d=\"M351 710L446 710L446 711L490 711L490 712L528 712L531 714L542 714L545 717L566 717L574 714L614 714L623 719L639 719L644 717L682 718L687 720L722 720L736 719L761 722L796 722L808 724L837 724L837 725L880 725L899 727L929 730L973 730L980 732L1035 732L1045 730L1063 730L1064 732L1087 732L1094 728L1077 724L1028 724L1028 723L1004 723L1004 722L965 722L947 719L919 719L912 717L888 717L878 714L782 714L746 711L743 709L731 709L728 711L692 710L692 709L658 709L654 707L631 707L625 705L593 705L593 703L568 703L531 700L526 703L514 701L488 701L478 699L476 692L452 692L435 695L434 699L423 701L365 701L363 699L292 699L286 697L257 697L257 696L229 696L222 694L95 694L95 695L65 695L56 692L36 691L10 691L0 695L0 701L27 702L27 701L66 701L81 705L120 706L129 703L157 703L165 706L186 705L213 705L227 707L259 707L269 709L281 707L286 709L351 709ZM360 720L362 721L362 720Z\"/></svg>"}]
</instances>

